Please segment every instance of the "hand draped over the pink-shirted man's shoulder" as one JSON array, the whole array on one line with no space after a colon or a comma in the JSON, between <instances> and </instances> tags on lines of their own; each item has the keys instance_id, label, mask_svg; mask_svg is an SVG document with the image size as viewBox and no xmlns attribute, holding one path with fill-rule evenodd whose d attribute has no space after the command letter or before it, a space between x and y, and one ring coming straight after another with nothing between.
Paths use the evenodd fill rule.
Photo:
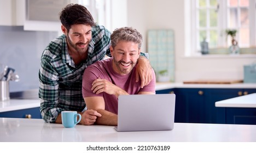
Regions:
<instances>
[{"instance_id":1,"label":"hand draped over the pink-shirted man's shoulder","mask_svg":"<svg viewBox=\"0 0 256 153\"><path fill-rule=\"evenodd\" d=\"M136 68L136 83L141 78L141 87L148 85L153 79L152 67L146 57L139 56L138 65Z\"/></svg>"}]
</instances>

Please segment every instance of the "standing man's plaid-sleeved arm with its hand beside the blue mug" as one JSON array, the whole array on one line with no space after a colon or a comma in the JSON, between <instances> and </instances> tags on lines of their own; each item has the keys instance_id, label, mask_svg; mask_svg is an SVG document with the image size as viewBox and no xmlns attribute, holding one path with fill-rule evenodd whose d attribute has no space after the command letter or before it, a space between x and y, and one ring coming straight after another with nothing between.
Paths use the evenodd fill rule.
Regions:
<instances>
[{"instance_id":1,"label":"standing man's plaid-sleeved arm with its hand beside the blue mug","mask_svg":"<svg viewBox=\"0 0 256 153\"><path fill-rule=\"evenodd\" d=\"M59 83L56 80L58 77L54 69L48 61L42 58L39 70L40 113L46 122L62 123L61 111L65 109L59 107ZM78 113L82 115L82 120L79 122L82 125L92 125L97 116L101 116L95 110Z\"/></svg>"}]
</instances>

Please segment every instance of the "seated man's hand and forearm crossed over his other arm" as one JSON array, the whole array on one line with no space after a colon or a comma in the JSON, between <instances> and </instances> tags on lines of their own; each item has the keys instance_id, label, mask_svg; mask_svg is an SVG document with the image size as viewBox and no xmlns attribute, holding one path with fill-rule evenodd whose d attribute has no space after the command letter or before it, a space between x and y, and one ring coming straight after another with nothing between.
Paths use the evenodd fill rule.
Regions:
<instances>
[{"instance_id":1,"label":"seated man's hand and forearm crossed over his other arm","mask_svg":"<svg viewBox=\"0 0 256 153\"><path fill-rule=\"evenodd\" d=\"M115 95L117 97L119 95L128 95L128 93L120 87L110 83L108 80L101 78L94 80L94 82L92 83L91 90L96 94L106 92L109 95Z\"/></svg>"}]
</instances>

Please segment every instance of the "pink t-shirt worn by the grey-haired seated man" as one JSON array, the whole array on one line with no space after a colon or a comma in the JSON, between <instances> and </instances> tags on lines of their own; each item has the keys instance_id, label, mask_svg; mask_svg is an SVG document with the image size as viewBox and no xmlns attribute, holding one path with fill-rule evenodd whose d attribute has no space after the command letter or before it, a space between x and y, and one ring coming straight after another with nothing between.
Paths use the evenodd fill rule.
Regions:
<instances>
[{"instance_id":1,"label":"pink t-shirt worn by the grey-haired seated man","mask_svg":"<svg viewBox=\"0 0 256 153\"><path fill-rule=\"evenodd\" d=\"M155 72L152 69L153 80L147 86L141 88L141 81L136 83L136 66L132 69L131 73L127 75L120 75L114 71L112 67L113 58L107 60L97 61L91 66L88 66L83 75L83 97L101 96L104 98L105 110L114 114L118 114L118 98L115 95L109 95L106 92L93 93L91 90L92 82L97 79L106 79L125 90L130 95L136 95L138 92L154 92L155 93Z\"/></svg>"}]
</instances>

